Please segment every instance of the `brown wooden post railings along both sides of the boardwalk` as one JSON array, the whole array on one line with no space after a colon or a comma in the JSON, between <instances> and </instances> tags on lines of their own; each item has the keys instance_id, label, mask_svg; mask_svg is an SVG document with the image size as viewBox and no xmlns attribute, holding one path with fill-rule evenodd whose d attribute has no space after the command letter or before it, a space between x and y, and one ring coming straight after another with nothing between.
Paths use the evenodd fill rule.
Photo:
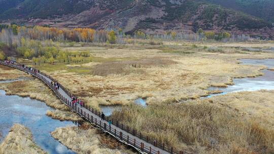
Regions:
<instances>
[{"instance_id":1,"label":"brown wooden post railings along both sides of the boardwalk","mask_svg":"<svg viewBox=\"0 0 274 154\"><path fill-rule=\"evenodd\" d=\"M56 94L56 96L68 107L71 108L71 110L75 111L76 113L78 113L78 115L80 115L80 117L82 117L84 120L92 123L95 127L100 128L102 131L104 132L108 132L109 134L111 134L112 136L114 136L115 138L117 138L118 140L120 140L121 142L124 142L125 144L131 145L133 147L135 147L136 149L138 149L141 152L145 152L145 153L152 153L152 154L159 154L160 151L159 150L155 150L153 149L153 147L151 146L145 146L143 142L138 142L136 141L136 139L132 139L131 137L129 137L128 135L124 135L122 132L118 132L116 129L113 129L111 127L111 125L107 125L106 123L101 123L100 120L94 118L92 115L89 115L88 113L86 113L85 111L83 112L83 110L79 107L77 107L77 105L74 105L70 100L67 100L64 96L62 96L57 89L54 88L54 86L50 83L50 81L48 81L46 78L50 79L53 82L57 82L55 79L53 79L50 75L32 68L32 70L30 70L30 67L24 67L22 64L16 63L16 62L5 62L5 61L0 61L0 64L6 65L6 66L10 66L10 67L14 67L16 69L25 71L30 73L33 76L36 76L36 78L42 80L45 84L47 84ZM46 78L44 78L44 76L46 76ZM59 85L59 87L68 95L70 96L70 98L72 98L74 95L66 88L64 88L61 84ZM90 108L90 106L87 105L83 105L84 108L86 108L87 110L89 110L90 112L92 112L93 114L96 114L98 117L101 117L101 113L100 111L97 111L94 108ZM155 139L151 139L148 136L144 136L142 135L141 132L138 132L134 129L129 128L128 126L123 126L123 124L119 123L119 121L115 121L113 119L109 119L109 117L106 118L107 121L111 121L113 125L115 125L116 127L126 131L127 133L136 136L138 138L140 138L143 141L146 141L150 144L152 144L155 147L158 147L168 153L177 153L177 154L183 154L183 151L177 151L175 149L173 149L173 147L168 147L165 144L162 143L158 143L157 140Z\"/></svg>"}]
</instances>

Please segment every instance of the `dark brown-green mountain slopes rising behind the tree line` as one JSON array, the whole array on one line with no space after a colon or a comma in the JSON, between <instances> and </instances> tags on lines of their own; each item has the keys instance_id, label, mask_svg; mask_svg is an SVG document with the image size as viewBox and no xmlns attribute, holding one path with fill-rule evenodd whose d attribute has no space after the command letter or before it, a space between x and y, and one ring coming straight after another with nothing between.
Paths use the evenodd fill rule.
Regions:
<instances>
[{"instance_id":1,"label":"dark brown-green mountain slopes rising behind the tree line","mask_svg":"<svg viewBox=\"0 0 274 154\"><path fill-rule=\"evenodd\" d=\"M270 0L0 0L0 4L3 22L123 28L127 33L198 28L269 33L274 18Z\"/></svg>"}]
</instances>

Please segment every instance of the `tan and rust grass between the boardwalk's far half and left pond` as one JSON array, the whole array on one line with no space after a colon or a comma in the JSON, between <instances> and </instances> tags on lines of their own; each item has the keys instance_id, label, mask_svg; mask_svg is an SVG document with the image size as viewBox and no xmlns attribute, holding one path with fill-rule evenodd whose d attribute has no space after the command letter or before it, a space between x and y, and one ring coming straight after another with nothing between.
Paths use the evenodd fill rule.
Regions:
<instances>
[{"instance_id":1,"label":"tan and rust grass between the boardwalk's far half and left pond","mask_svg":"<svg viewBox=\"0 0 274 154\"><path fill-rule=\"evenodd\" d=\"M54 119L59 120L80 120L76 113L70 113L67 106L65 106L53 92L40 80L33 78L25 72L11 69L6 66L0 67L0 76L3 80L11 80L24 78L26 80L15 81L11 83L0 84L0 89L6 91L7 95L18 95L21 97L30 97L45 102L48 106L58 109L56 111L49 111L48 115Z\"/></svg>"}]
</instances>

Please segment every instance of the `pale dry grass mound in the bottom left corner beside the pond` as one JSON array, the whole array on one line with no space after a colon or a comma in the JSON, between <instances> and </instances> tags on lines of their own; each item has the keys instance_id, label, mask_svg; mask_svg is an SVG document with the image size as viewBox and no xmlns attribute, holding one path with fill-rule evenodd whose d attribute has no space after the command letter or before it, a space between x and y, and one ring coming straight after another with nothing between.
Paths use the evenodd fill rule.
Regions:
<instances>
[{"instance_id":1,"label":"pale dry grass mound in the bottom left corner beside the pond","mask_svg":"<svg viewBox=\"0 0 274 154\"><path fill-rule=\"evenodd\" d=\"M44 154L46 152L32 141L30 130L22 125L15 124L4 141L0 144L0 153Z\"/></svg>"}]
</instances>

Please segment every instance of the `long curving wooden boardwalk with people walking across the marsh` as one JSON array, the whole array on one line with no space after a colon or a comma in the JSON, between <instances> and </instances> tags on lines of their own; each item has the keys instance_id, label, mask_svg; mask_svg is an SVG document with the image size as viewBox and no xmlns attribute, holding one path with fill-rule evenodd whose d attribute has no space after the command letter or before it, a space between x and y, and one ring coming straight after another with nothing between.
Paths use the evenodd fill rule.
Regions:
<instances>
[{"instance_id":1,"label":"long curving wooden boardwalk with people walking across the marsh","mask_svg":"<svg viewBox=\"0 0 274 154\"><path fill-rule=\"evenodd\" d=\"M35 68L32 70L29 67L24 67L22 64L16 62L0 61L0 64L13 67L22 71L25 71L36 78L42 80L47 86L49 86L56 96L72 111L76 112L80 117L85 121L90 122L94 127L99 128L101 131L109 133L117 140L123 142L124 144L134 147L136 150L141 153L152 153L152 154L167 154L167 153L177 153L183 154L183 151L176 151L173 147L167 147L164 144L158 143L156 140L144 136L141 132L137 132L134 129L131 129L127 126L123 126L118 121L109 119L101 120L100 112L90 108L90 106L84 105L80 107L77 103L72 103L72 97L74 96L69 90L60 85L59 90L55 89L51 82L57 82L51 76L46 73L39 71ZM108 121L112 121L112 124L109 125Z\"/></svg>"}]
</instances>

